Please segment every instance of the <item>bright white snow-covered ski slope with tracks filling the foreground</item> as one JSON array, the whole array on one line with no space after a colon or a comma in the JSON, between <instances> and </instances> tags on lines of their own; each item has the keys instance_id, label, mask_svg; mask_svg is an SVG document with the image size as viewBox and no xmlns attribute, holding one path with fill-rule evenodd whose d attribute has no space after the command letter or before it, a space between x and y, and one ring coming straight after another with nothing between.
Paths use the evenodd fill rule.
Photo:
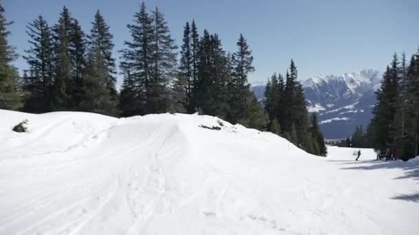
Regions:
<instances>
[{"instance_id":1,"label":"bright white snow-covered ski slope with tracks filling the foreground","mask_svg":"<svg viewBox=\"0 0 419 235\"><path fill-rule=\"evenodd\" d=\"M315 157L210 116L0 119L0 234L419 233L416 159Z\"/></svg>"}]
</instances>

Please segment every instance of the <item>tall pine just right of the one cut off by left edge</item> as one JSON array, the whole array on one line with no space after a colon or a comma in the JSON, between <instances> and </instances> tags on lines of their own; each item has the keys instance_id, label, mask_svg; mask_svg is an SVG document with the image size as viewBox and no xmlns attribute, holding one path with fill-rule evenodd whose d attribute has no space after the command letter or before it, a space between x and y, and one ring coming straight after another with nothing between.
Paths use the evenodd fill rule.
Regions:
<instances>
[{"instance_id":1,"label":"tall pine just right of the one cut off by left edge","mask_svg":"<svg viewBox=\"0 0 419 235\"><path fill-rule=\"evenodd\" d=\"M23 76L24 88L28 93L25 98L24 110L32 113L45 113L50 111L54 79L52 32L42 16L34 19L27 28L26 33L30 36L28 42L31 47L25 50L27 56L23 56L23 58L28 62L32 76L28 76L28 74Z\"/></svg>"}]
</instances>

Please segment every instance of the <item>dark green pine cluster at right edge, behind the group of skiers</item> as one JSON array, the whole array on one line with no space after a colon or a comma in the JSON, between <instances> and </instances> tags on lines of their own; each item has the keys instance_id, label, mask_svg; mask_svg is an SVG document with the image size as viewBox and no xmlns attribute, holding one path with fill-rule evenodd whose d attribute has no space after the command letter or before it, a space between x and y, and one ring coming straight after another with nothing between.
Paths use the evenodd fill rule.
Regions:
<instances>
[{"instance_id":1,"label":"dark green pine cluster at right edge, behind the group of skiers","mask_svg":"<svg viewBox=\"0 0 419 235\"><path fill-rule=\"evenodd\" d=\"M419 52L418 52L419 53ZM396 148L398 157L418 155L419 60L414 54L407 65L405 54L387 66L377 92L374 117L367 128L366 142L379 150Z\"/></svg>"}]
</instances>

